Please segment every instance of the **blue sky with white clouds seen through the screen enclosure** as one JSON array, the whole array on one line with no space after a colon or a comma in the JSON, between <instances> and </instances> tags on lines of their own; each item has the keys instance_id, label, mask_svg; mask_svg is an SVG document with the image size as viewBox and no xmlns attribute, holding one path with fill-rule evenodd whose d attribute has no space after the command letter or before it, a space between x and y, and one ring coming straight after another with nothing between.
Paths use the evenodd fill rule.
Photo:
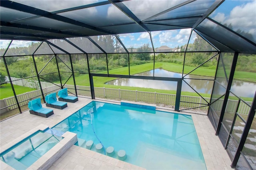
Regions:
<instances>
[{"instance_id":1,"label":"blue sky with white clouds seen through the screen enclosure","mask_svg":"<svg viewBox=\"0 0 256 170\"><path fill-rule=\"evenodd\" d=\"M26 0L16 0L16 2L19 3L32 3L31 6L34 6L36 8L42 8L43 1L26 1ZM65 3L66 1L62 1L63 3L56 3L54 5L46 5L44 3L43 10L47 11L57 11L64 8L71 8L73 6L79 6L84 3L89 4L90 2L97 2L97 1L74 1L72 3L73 6L68 6L69 3ZM144 20L149 16L154 15L154 13L158 13L159 11L165 10L170 8L171 6L175 6L178 1L161 1L161 3L157 3L160 1L136 1L138 2L136 6L131 6L129 1L124 2L130 10L138 16L140 20ZM183 2L183 1L180 1ZM179 2L179 3L180 3ZM200 1L198 1L199 3ZM61 4L61 5L60 5ZM192 3L191 3L192 4ZM150 8L150 5L156 6L155 12L148 13L148 10L145 10L146 8ZM102 7L93 7L90 8L91 14L96 14L98 10L101 10L105 13L105 15L101 15L101 20L107 19L108 17L113 17L116 12L120 14L120 11L117 8L113 8L112 5L107 5L104 10L102 10ZM88 10L87 10L88 12ZM65 14L63 13L63 16ZM99 15L97 15L99 16ZM246 16L246 17L244 17ZM255 22L255 16L256 16L256 0L226 0L224 1L212 14L210 14L210 18L216 20L217 22L220 22L221 24L225 25L232 25L232 29L242 30L246 33L250 33L254 36L253 42L256 43L256 22ZM123 20L129 21L130 19L127 18L127 16L122 16ZM122 18L121 17L121 18ZM82 20L81 17L77 18L78 20ZM116 23L123 22L123 21L116 21ZM210 23L210 21L208 21ZM182 29L182 30L167 30L167 31L155 31L151 32L153 44L154 47L160 47L162 45L166 45L168 47L174 48L174 47L180 47L182 45L185 45L188 43L188 38L190 36L191 29ZM141 32L141 33L132 33L132 34L120 34L120 39L126 45L126 48L129 48L133 46L134 48L138 48L142 46L144 43L149 43L150 47L152 47L152 44L150 42L150 36L148 32ZM192 37L190 38L190 43L193 43L196 38L195 34L192 34ZM0 47L6 48L9 44L9 40L0 40ZM28 46L31 42L28 41L13 41L11 47L22 47L22 46Z\"/></svg>"}]
</instances>

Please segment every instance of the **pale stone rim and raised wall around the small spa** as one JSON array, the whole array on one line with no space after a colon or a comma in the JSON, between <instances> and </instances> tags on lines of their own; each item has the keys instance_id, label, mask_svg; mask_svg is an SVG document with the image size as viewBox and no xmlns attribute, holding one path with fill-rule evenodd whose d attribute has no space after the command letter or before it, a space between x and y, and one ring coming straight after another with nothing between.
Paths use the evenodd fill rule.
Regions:
<instances>
[{"instance_id":1,"label":"pale stone rim and raised wall around the small spa","mask_svg":"<svg viewBox=\"0 0 256 170\"><path fill-rule=\"evenodd\" d=\"M5 152L6 150L9 150L12 147L15 147L16 145L20 144L20 142L32 134L38 132L39 130L45 131L49 127L46 125L39 125L36 128L33 128L29 132L21 135L20 137L16 138L12 142L4 145L1 147L1 153ZM36 162L34 162L31 166L29 166L27 169L36 169L36 170L45 170L50 168L56 160L58 160L71 146L73 146L76 142L77 134L72 132L65 132L62 135L62 140L58 142L54 147L52 147L50 150L48 150L44 155L42 155ZM14 168L5 162L1 161L1 168L4 170L14 170Z\"/></svg>"}]
</instances>

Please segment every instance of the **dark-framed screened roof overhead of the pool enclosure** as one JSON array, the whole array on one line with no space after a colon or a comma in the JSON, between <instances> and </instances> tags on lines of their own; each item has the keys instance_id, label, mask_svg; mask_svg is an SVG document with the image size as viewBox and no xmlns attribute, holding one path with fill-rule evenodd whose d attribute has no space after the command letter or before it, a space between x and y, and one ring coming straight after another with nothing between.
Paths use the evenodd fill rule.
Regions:
<instances>
[{"instance_id":1,"label":"dark-framed screened roof overhead of the pool enclosure","mask_svg":"<svg viewBox=\"0 0 256 170\"><path fill-rule=\"evenodd\" d=\"M254 4L244 1L238 6L244 11ZM256 53L256 13L236 13L244 15L239 18L254 18L247 25L233 24L232 16L223 21L234 13L231 6L232 1L221 0L1 0L0 36L43 41L192 28L220 51Z\"/></svg>"}]
</instances>

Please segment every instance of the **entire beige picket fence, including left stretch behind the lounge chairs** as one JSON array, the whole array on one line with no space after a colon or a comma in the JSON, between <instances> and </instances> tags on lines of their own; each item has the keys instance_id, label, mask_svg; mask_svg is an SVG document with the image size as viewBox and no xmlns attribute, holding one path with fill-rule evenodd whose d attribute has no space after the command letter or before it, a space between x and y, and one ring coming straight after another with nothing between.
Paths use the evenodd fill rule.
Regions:
<instances>
[{"instance_id":1,"label":"entire beige picket fence, including left stretch behind the lounge chairs","mask_svg":"<svg viewBox=\"0 0 256 170\"><path fill-rule=\"evenodd\" d=\"M52 84L51 84L52 85ZM75 94L74 85L65 85L64 87L68 88L68 91ZM80 86L76 85L78 95L90 96L90 87L89 86ZM52 91L57 92L60 90L60 87L54 85L51 87L45 87L43 89L44 95L47 95ZM176 95L172 94L164 94L164 93L156 93L156 92L145 92L145 91L137 91L137 90L123 90L123 89L110 89L105 87L94 87L95 97L108 98L108 99L116 99L116 100L128 100L128 101L139 101L145 103L154 103L158 105L170 105L175 106ZM41 95L40 90L27 92L21 95L17 95L20 106L27 105L29 100L34 99L36 96ZM204 98L206 101L210 101L210 98ZM194 97L194 96L184 96L180 97L180 107L182 108L194 108L205 106L206 101L204 101L202 97ZM190 102L190 103L187 103ZM228 100L228 107L226 108L226 112L234 113L237 105L236 100ZM5 105L3 105L4 103ZM223 99L219 99L212 106L215 111L220 111L222 108ZM247 102L249 105L252 102ZM16 104L16 100L14 97L9 97L1 100L1 108L8 107L8 110L16 109L18 106L13 105ZM12 105L12 106L11 106ZM208 110L208 107L200 107L200 110ZM238 113L247 115L250 110L245 103L240 102L240 106L238 109ZM4 109L1 110L4 112Z\"/></svg>"}]
</instances>

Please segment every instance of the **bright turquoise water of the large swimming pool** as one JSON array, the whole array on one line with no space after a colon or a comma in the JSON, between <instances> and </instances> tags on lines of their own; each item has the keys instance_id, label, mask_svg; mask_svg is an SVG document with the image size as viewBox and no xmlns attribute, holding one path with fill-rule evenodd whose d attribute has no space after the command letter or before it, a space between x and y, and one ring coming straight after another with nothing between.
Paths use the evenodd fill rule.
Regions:
<instances>
[{"instance_id":1,"label":"bright turquoise water of the large swimming pool","mask_svg":"<svg viewBox=\"0 0 256 170\"><path fill-rule=\"evenodd\" d=\"M86 141L93 140L95 151L99 141L89 109L103 146L114 147L112 157L125 150L124 161L146 169L206 169L190 115L92 101L53 129L76 133L78 146L84 148Z\"/></svg>"}]
</instances>

